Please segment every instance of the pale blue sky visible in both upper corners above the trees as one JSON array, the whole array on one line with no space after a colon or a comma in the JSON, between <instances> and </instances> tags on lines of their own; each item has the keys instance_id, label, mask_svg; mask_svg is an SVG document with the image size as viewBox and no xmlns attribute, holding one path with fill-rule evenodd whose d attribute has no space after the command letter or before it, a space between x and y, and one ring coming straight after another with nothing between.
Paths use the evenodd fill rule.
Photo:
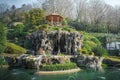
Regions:
<instances>
[{"instance_id":1,"label":"pale blue sky visible in both upper corners above the trees","mask_svg":"<svg viewBox=\"0 0 120 80\"><path fill-rule=\"evenodd\" d=\"M36 2L37 0L0 0L0 3L7 3L10 6L15 5L16 7L21 7L22 4L32 4L33 2ZM105 0L107 4L110 4L112 6L120 6L120 0Z\"/></svg>"}]
</instances>

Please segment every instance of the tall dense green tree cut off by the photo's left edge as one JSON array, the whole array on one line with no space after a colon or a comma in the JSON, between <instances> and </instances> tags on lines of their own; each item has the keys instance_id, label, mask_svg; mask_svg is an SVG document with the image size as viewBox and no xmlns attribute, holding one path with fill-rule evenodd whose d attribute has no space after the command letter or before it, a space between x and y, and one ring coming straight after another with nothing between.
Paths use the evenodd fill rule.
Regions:
<instances>
[{"instance_id":1,"label":"tall dense green tree cut off by the photo's left edge","mask_svg":"<svg viewBox=\"0 0 120 80\"><path fill-rule=\"evenodd\" d=\"M0 23L0 53L3 53L6 48L6 30L5 26Z\"/></svg>"}]
</instances>

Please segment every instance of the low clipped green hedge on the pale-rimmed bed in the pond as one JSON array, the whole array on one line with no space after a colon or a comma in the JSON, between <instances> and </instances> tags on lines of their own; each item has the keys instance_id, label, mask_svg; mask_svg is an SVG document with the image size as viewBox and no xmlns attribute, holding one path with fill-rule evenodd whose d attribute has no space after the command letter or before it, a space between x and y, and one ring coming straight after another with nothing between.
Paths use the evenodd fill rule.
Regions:
<instances>
[{"instance_id":1,"label":"low clipped green hedge on the pale-rimmed bed in the pond","mask_svg":"<svg viewBox=\"0 0 120 80\"><path fill-rule=\"evenodd\" d=\"M40 66L40 70L42 71L69 70L74 68L77 68L76 63L51 64L51 65L42 64Z\"/></svg>"}]
</instances>

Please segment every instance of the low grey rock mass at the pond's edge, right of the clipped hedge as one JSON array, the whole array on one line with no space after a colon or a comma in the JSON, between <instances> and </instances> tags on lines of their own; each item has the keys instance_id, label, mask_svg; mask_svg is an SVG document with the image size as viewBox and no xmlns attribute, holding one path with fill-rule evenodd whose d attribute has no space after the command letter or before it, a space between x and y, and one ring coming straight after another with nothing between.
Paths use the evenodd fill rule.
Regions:
<instances>
[{"instance_id":1,"label":"low grey rock mass at the pond's edge, right of the clipped hedge","mask_svg":"<svg viewBox=\"0 0 120 80\"><path fill-rule=\"evenodd\" d=\"M103 58L100 57L95 57L93 55L78 55L76 57L76 62L78 64L79 67L83 66L86 67L87 69L92 69L92 70L102 70L102 61Z\"/></svg>"}]
</instances>

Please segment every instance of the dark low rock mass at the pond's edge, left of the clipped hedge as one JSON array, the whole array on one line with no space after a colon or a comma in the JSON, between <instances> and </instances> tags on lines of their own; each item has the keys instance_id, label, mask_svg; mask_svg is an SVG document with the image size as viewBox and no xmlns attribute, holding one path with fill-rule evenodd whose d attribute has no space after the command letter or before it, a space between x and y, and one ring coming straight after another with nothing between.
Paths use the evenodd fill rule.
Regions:
<instances>
[{"instance_id":1,"label":"dark low rock mass at the pond's edge, left of the clipped hedge","mask_svg":"<svg viewBox=\"0 0 120 80\"><path fill-rule=\"evenodd\" d=\"M21 67L28 69L39 69L44 55L22 54L19 57L5 57L10 68Z\"/></svg>"}]
</instances>

